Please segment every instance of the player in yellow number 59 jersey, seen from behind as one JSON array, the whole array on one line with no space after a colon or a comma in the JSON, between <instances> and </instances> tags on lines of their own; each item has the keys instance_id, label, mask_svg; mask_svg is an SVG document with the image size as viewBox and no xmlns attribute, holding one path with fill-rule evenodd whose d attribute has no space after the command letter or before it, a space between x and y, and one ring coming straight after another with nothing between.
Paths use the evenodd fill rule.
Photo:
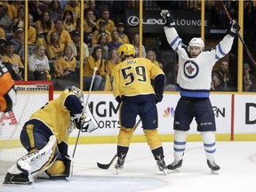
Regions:
<instances>
[{"instance_id":1,"label":"player in yellow number 59 jersey, seen from behind","mask_svg":"<svg viewBox=\"0 0 256 192\"><path fill-rule=\"evenodd\" d=\"M122 44L118 54L122 62L112 72L113 93L120 103L121 124L117 141L116 171L119 172L124 166L136 117L140 116L143 132L156 164L159 170L165 173L167 168L164 163L164 149L156 130L156 103L163 99L164 72L148 59L134 58L135 49L132 44ZM156 81L155 88L151 85L151 79Z\"/></svg>"}]
</instances>

